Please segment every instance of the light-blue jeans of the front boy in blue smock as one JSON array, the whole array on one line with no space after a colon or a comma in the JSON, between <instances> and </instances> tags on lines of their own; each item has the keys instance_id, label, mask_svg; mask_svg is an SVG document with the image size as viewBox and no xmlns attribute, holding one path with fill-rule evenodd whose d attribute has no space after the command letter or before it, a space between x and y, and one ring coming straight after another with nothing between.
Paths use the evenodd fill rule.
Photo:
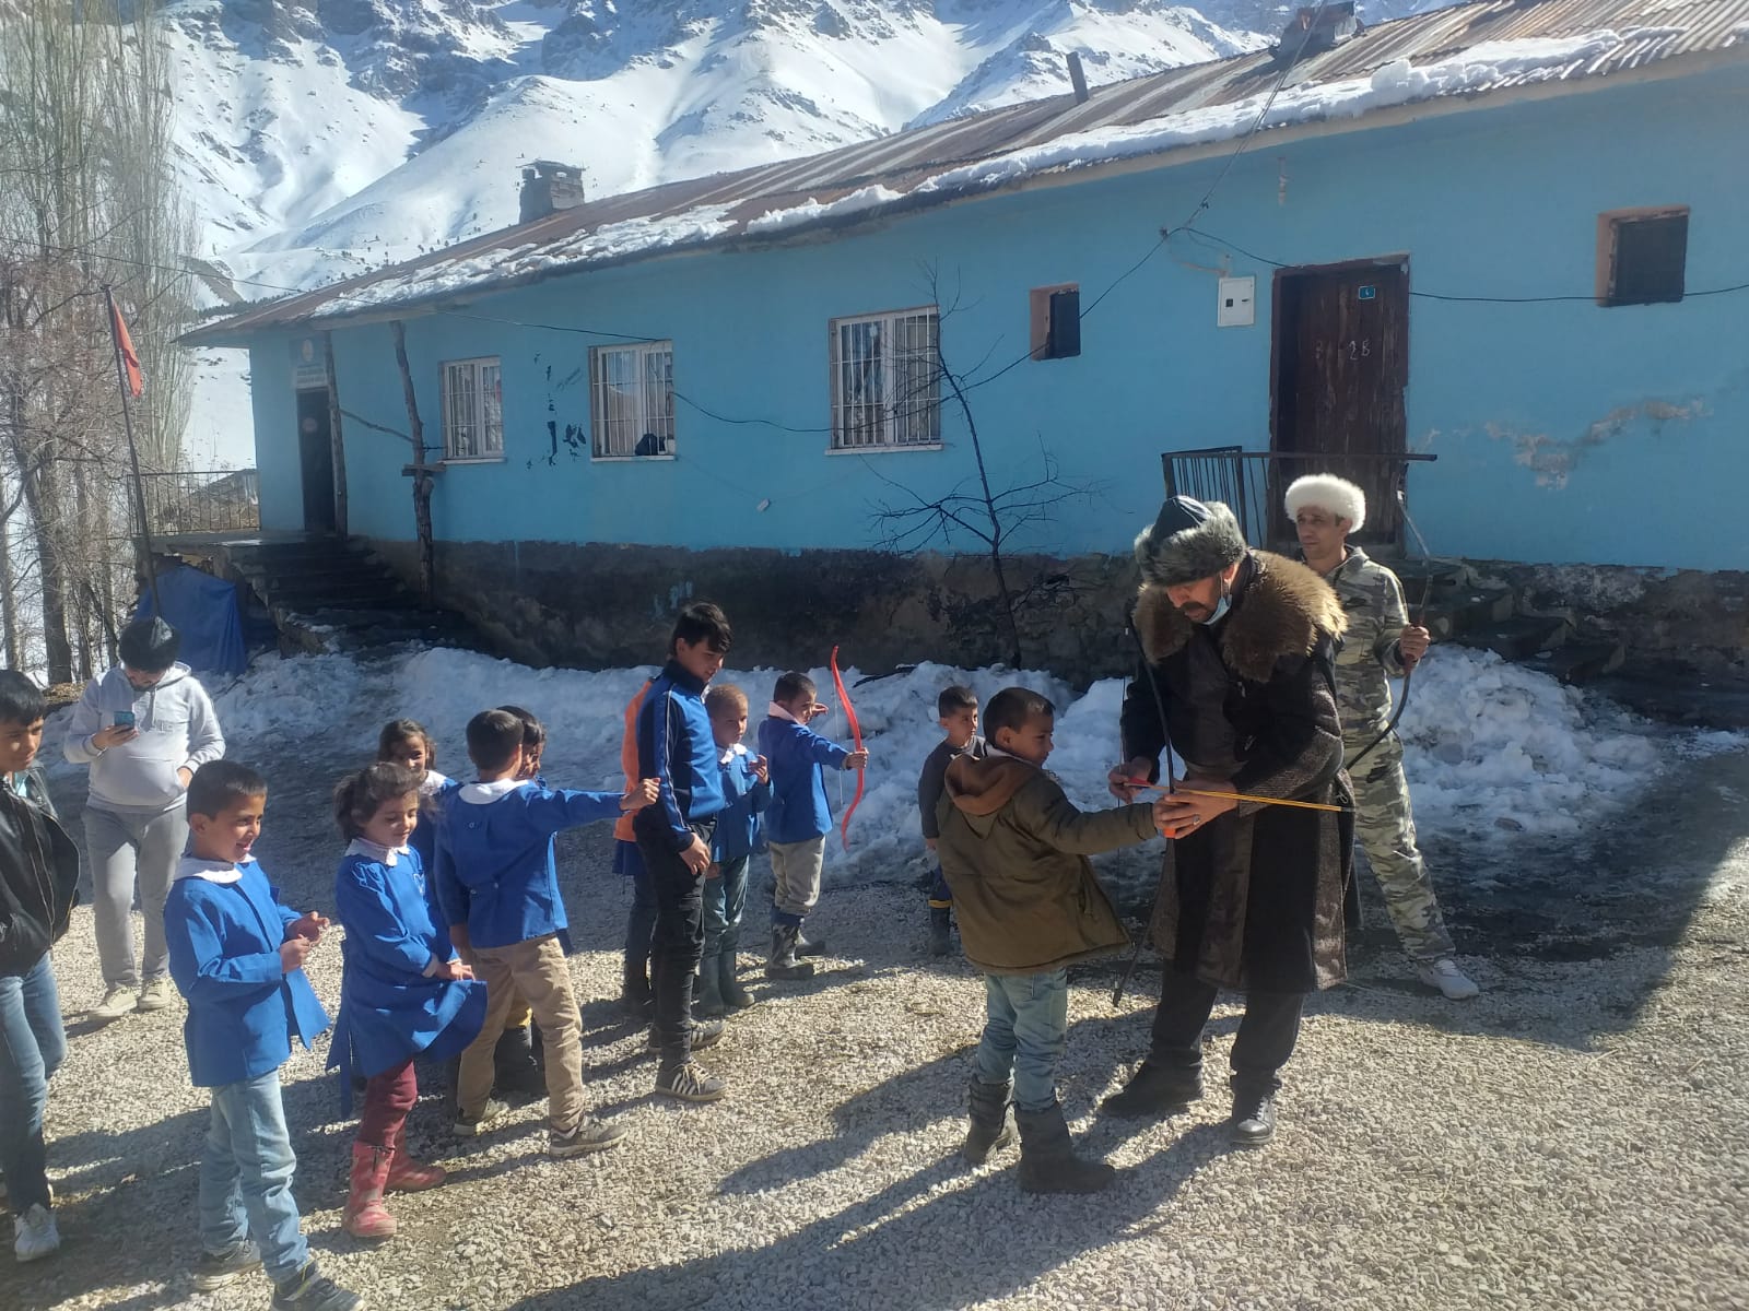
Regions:
<instances>
[{"instance_id":1,"label":"light-blue jeans of the front boy in blue smock","mask_svg":"<svg viewBox=\"0 0 1749 1311\"><path fill-rule=\"evenodd\" d=\"M310 1260L292 1197L292 1140L285 1133L280 1072L213 1089L201 1157L201 1246L224 1252L254 1238L261 1264L285 1283Z\"/></svg>"}]
</instances>

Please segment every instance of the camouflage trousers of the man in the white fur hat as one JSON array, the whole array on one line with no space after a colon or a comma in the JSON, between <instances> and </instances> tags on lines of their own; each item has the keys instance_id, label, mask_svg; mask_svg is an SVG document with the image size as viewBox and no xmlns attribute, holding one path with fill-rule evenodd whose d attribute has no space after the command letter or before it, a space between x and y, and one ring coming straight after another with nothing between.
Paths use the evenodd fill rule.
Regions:
<instances>
[{"instance_id":1,"label":"camouflage trousers of the man in the white fur hat","mask_svg":"<svg viewBox=\"0 0 1749 1311\"><path fill-rule=\"evenodd\" d=\"M1378 734L1343 736L1343 757L1354 759ZM1452 935L1445 932L1439 898L1427 877L1420 848L1415 846L1415 813L1410 808L1410 785L1403 778L1403 743L1396 734L1378 743L1354 783L1354 839L1373 867L1378 890L1385 895L1385 911L1397 930L1403 951L1415 961L1450 956Z\"/></svg>"}]
</instances>

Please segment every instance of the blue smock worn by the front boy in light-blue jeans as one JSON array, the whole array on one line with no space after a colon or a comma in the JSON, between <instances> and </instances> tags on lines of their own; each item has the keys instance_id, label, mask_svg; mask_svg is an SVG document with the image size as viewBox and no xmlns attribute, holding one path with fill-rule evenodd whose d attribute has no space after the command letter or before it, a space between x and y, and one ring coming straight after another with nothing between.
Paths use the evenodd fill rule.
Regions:
<instances>
[{"instance_id":1,"label":"blue smock worn by the front boy in light-blue jeans","mask_svg":"<svg viewBox=\"0 0 1749 1311\"><path fill-rule=\"evenodd\" d=\"M254 860L184 857L164 902L170 977L187 998L182 1038L196 1087L261 1079L329 1026L303 970L280 970L285 928L299 918Z\"/></svg>"}]
</instances>

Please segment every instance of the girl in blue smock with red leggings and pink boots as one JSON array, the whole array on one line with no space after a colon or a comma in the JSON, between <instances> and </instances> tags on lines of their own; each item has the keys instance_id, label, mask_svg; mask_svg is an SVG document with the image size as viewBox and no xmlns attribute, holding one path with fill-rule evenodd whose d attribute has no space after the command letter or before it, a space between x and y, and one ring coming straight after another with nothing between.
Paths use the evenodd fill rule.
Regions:
<instances>
[{"instance_id":1,"label":"girl in blue smock with red leggings and pink boots","mask_svg":"<svg viewBox=\"0 0 1749 1311\"><path fill-rule=\"evenodd\" d=\"M413 1058L458 1054L486 1017L484 984L432 921L411 843L418 818L420 780L404 766L374 764L334 788L334 820L350 844L334 879L346 967L329 1065L355 1063L366 1077L343 1220L353 1238L395 1232L385 1192L444 1182L441 1166L408 1152L408 1112L420 1099Z\"/></svg>"}]
</instances>

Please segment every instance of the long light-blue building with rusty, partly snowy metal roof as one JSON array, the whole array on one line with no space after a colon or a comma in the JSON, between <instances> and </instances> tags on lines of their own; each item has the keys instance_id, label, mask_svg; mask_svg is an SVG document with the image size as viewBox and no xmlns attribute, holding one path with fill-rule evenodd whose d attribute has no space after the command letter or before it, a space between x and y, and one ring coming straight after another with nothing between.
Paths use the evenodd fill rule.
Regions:
<instances>
[{"instance_id":1,"label":"long light-blue building with rusty, partly snowy metal roof","mask_svg":"<svg viewBox=\"0 0 1749 1311\"><path fill-rule=\"evenodd\" d=\"M1016 549L1125 554L1161 453L1237 446L1375 500L1438 456L1439 554L1740 570L1746 107L1744 0L1483 0L560 208L196 337L250 348L264 528L332 523L329 332L345 526L413 538L399 320L451 549L876 547L976 477L939 341L997 489L1079 493Z\"/></svg>"}]
</instances>

